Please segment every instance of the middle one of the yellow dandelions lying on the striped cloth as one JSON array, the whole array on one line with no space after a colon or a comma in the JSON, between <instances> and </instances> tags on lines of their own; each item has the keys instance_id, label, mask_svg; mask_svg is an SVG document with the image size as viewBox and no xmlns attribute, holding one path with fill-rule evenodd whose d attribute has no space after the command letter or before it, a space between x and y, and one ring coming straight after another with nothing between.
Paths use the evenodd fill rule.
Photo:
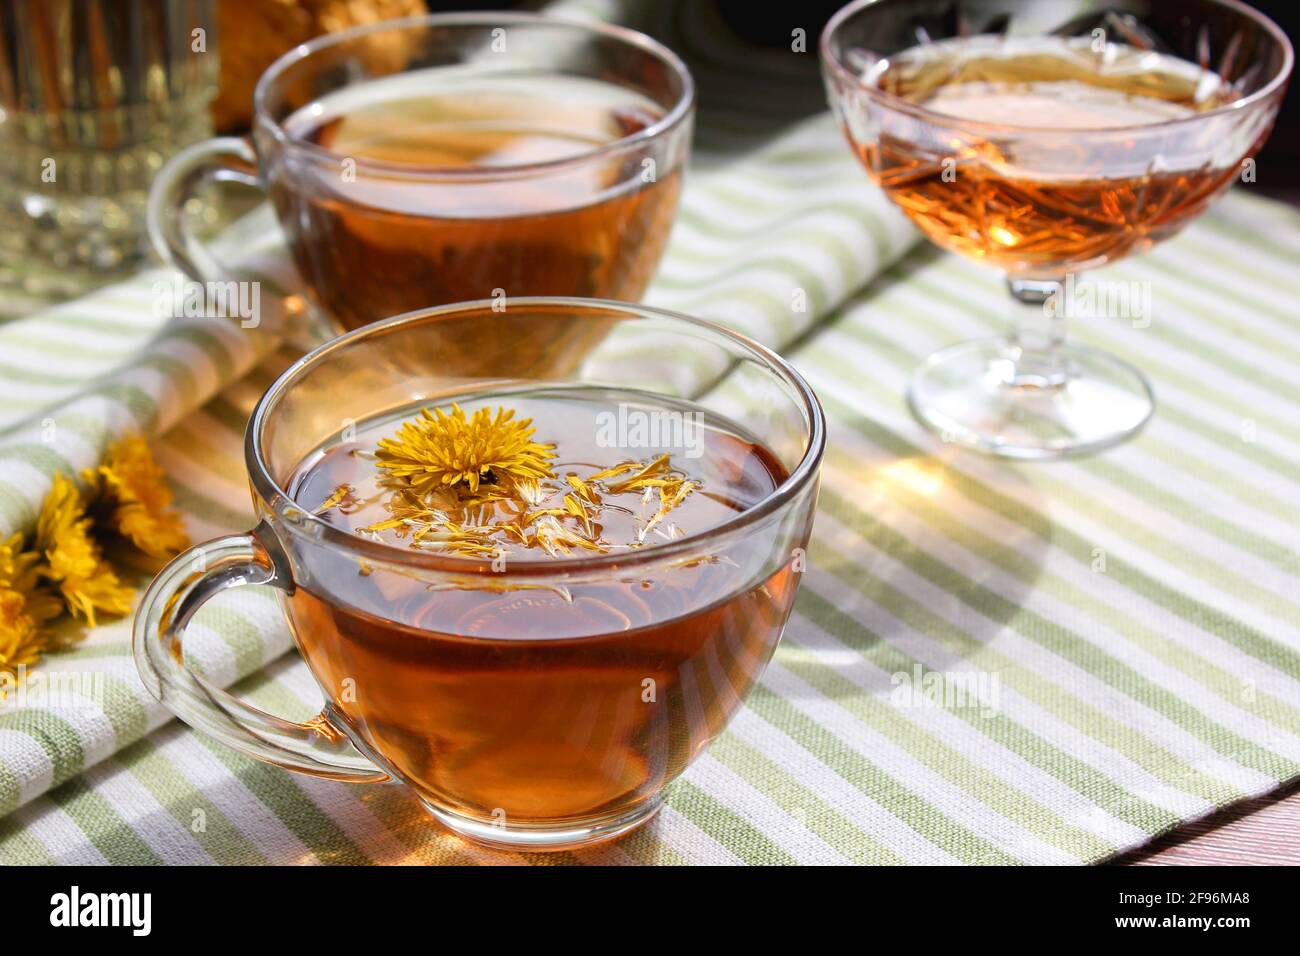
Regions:
<instances>
[{"instance_id":1,"label":"middle one of the yellow dandelions lying on the striped cloth","mask_svg":"<svg viewBox=\"0 0 1300 956\"><path fill-rule=\"evenodd\" d=\"M77 486L55 475L53 486L36 519L36 546L43 558L40 575L57 587L73 617L95 626L95 613L126 614L131 588L122 584L90 536L91 519Z\"/></svg>"}]
</instances>

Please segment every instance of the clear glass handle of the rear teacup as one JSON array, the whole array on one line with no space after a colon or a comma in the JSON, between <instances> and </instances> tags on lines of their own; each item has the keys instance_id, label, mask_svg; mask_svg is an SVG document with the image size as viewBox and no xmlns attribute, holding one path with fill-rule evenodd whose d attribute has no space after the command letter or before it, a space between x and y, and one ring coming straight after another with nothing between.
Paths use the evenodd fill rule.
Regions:
<instances>
[{"instance_id":1,"label":"clear glass handle of the rear teacup","mask_svg":"<svg viewBox=\"0 0 1300 956\"><path fill-rule=\"evenodd\" d=\"M164 261L195 282L221 282L230 278L229 271L185 222L185 207L203 182L240 182L266 191L257 176L257 153L247 139L205 139L181 150L159 170L150 189L146 221L150 242Z\"/></svg>"}]
</instances>

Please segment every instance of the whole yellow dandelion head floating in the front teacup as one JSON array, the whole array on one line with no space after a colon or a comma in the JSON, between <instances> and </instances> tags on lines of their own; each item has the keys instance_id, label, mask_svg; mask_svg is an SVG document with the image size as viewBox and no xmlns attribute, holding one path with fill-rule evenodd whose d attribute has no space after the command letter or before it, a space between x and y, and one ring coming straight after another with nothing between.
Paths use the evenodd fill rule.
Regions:
<instances>
[{"instance_id":1,"label":"whole yellow dandelion head floating in the front teacup","mask_svg":"<svg viewBox=\"0 0 1300 956\"><path fill-rule=\"evenodd\" d=\"M532 419L516 421L514 408L498 408L495 418L490 408L468 418L458 405L450 415L422 408L396 437L380 442L376 458L417 494L460 483L473 493L480 483L551 477L549 459L555 458L555 446L533 441L537 429L532 424Z\"/></svg>"}]
</instances>

